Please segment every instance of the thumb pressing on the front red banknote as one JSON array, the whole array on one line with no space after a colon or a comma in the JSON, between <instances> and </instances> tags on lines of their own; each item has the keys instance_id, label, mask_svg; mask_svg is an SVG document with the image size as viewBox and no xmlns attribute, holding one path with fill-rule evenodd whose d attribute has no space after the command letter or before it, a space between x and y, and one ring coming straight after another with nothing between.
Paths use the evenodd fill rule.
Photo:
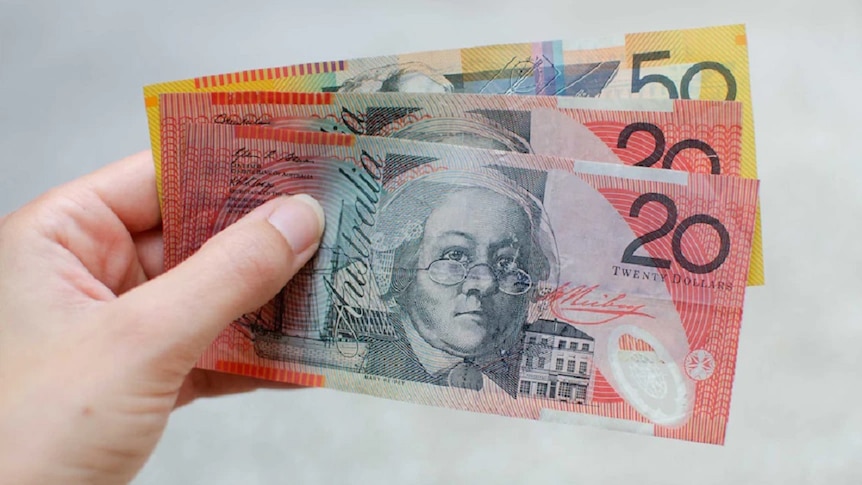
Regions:
<instances>
[{"instance_id":1,"label":"thumb pressing on the front red banknote","mask_svg":"<svg viewBox=\"0 0 862 485\"><path fill-rule=\"evenodd\" d=\"M138 320L133 333L151 350L174 357L181 350L191 367L225 326L266 304L311 259L323 228L323 209L310 196L269 201L116 300L120 314Z\"/></svg>"}]
</instances>

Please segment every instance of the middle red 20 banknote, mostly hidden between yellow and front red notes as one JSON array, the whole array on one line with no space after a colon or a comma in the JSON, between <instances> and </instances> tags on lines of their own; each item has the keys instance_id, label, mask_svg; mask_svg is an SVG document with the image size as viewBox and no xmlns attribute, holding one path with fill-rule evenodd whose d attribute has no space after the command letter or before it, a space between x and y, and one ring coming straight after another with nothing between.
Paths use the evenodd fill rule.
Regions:
<instances>
[{"instance_id":1,"label":"middle red 20 banknote, mostly hidden between yellow and front red notes","mask_svg":"<svg viewBox=\"0 0 862 485\"><path fill-rule=\"evenodd\" d=\"M268 124L302 131L389 136L606 163L739 176L741 106L719 101L596 100L414 93L172 93L161 96L162 140L182 147L192 122ZM181 244L189 175L165 151L167 248ZM177 211L177 214L167 214ZM177 262L166 257L167 267Z\"/></svg>"}]
</instances>

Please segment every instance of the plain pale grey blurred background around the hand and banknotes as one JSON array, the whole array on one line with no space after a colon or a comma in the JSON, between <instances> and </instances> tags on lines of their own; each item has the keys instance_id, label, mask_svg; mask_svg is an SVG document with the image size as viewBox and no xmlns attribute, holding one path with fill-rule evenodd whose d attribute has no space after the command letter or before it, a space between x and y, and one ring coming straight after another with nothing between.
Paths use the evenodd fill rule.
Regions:
<instances>
[{"instance_id":1,"label":"plain pale grey blurred background around the hand and banknotes","mask_svg":"<svg viewBox=\"0 0 862 485\"><path fill-rule=\"evenodd\" d=\"M862 483L859 0L311 3L0 2L0 213L148 148L145 84L745 23L767 286L747 294L726 445L261 391L177 412L136 484Z\"/></svg>"}]
</instances>

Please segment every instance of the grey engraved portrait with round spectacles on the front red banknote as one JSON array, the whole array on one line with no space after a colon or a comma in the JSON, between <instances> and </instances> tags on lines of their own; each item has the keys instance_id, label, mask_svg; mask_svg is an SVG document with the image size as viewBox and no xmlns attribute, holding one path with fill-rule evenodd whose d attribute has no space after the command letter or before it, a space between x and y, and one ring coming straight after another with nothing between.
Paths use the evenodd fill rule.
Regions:
<instances>
[{"instance_id":1,"label":"grey engraved portrait with round spectacles on the front red banknote","mask_svg":"<svg viewBox=\"0 0 862 485\"><path fill-rule=\"evenodd\" d=\"M540 202L499 173L446 171L382 203L372 262L396 338L366 371L515 395L531 304L551 275Z\"/></svg>"}]
</instances>

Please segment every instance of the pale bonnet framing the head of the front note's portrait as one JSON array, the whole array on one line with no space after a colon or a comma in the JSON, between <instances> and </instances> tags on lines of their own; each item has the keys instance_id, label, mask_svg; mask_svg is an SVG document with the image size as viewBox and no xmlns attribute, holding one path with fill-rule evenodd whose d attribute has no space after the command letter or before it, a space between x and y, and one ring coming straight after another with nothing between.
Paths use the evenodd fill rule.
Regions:
<instances>
[{"instance_id":1,"label":"pale bonnet framing the head of the front note's portrait","mask_svg":"<svg viewBox=\"0 0 862 485\"><path fill-rule=\"evenodd\" d=\"M476 188L513 200L527 215L530 250L525 270L533 279L529 296L535 299L556 288L559 280L556 239L541 201L494 168L445 170L413 179L381 200L372 233L371 270L384 302L394 305L395 297L415 276L425 222L435 208L450 194ZM468 214L470 207L464 211Z\"/></svg>"}]
</instances>

